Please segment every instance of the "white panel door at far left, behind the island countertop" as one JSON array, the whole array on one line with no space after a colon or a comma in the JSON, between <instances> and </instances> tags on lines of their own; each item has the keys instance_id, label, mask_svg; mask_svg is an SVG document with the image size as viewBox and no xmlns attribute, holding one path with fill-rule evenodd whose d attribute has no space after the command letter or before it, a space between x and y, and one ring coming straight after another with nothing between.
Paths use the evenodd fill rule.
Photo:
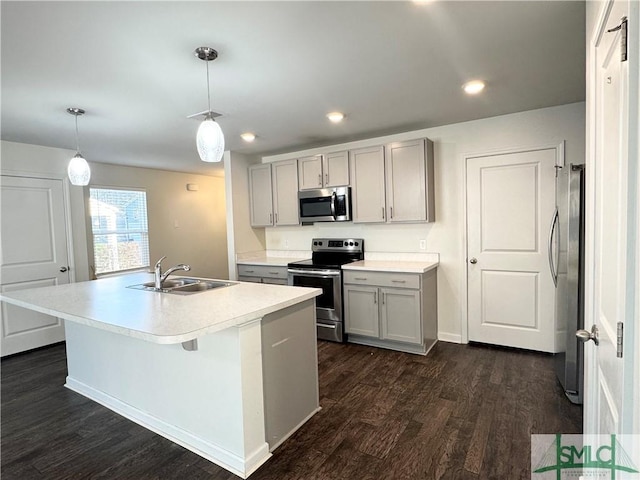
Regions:
<instances>
[{"instance_id":1,"label":"white panel door at far left, behind the island countertop","mask_svg":"<svg viewBox=\"0 0 640 480\"><path fill-rule=\"evenodd\" d=\"M62 180L2 175L1 284L11 292L69 283ZM2 303L2 356L64 340L61 319Z\"/></svg>"}]
</instances>

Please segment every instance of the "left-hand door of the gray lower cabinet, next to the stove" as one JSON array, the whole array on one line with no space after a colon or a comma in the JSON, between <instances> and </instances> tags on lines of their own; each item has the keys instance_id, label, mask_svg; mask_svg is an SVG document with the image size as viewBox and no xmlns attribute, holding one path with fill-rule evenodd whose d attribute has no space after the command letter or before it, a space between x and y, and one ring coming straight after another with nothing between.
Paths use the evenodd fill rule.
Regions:
<instances>
[{"instance_id":1,"label":"left-hand door of the gray lower cabinet, next to the stove","mask_svg":"<svg viewBox=\"0 0 640 480\"><path fill-rule=\"evenodd\" d=\"M345 331L378 338L378 288L344 286Z\"/></svg>"}]
</instances>

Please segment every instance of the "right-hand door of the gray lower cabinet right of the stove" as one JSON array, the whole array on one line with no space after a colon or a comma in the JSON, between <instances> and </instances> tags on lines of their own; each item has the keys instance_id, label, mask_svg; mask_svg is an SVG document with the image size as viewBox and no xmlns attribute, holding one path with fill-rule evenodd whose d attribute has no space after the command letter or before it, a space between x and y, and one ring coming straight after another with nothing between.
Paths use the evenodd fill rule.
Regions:
<instances>
[{"instance_id":1,"label":"right-hand door of the gray lower cabinet right of the stove","mask_svg":"<svg viewBox=\"0 0 640 480\"><path fill-rule=\"evenodd\" d=\"M382 336L396 342L422 343L420 291L380 289Z\"/></svg>"}]
</instances>

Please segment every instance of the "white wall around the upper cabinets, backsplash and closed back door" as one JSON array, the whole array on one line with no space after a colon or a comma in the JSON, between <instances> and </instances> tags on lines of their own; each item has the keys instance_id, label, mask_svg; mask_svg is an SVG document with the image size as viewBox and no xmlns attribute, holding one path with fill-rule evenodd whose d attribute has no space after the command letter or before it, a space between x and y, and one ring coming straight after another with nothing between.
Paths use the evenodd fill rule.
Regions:
<instances>
[{"instance_id":1,"label":"white wall around the upper cabinets, backsplash and closed back door","mask_svg":"<svg viewBox=\"0 0 640 480\"><path fill-rule=\"evenodd\" d=\"M427 137L435 147L436 221L413 225L315 224L266 229L267 249L308 250L313 237L364 238L368 252L427 252L440 254L438 269L438 331L441 339L459 341L466 321L465 157L566 141L566 161L584 163L585 105L521 112L471 122L428 128L398 135L350 142L336 148L358 148ZM263 158L264 162L298 158L320 149Z\"/></svg>"}]
</instances>

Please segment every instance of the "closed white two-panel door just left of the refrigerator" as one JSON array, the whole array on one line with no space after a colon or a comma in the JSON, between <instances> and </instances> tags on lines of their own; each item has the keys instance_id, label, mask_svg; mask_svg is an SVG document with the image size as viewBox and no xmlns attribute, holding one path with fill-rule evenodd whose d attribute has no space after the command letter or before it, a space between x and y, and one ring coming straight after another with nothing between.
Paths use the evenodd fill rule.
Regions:
<instances>
[{"instance_id":1,"label":"closed white two-panel door just left of the refrigerator","mask_svg":"<svg viewBox=\"0 0 640 480\"><path fill-rule=\"evenodd\" d=\"M467 158L469 340L555 350L556 148Z\"/></svg>"}]
</instances>

